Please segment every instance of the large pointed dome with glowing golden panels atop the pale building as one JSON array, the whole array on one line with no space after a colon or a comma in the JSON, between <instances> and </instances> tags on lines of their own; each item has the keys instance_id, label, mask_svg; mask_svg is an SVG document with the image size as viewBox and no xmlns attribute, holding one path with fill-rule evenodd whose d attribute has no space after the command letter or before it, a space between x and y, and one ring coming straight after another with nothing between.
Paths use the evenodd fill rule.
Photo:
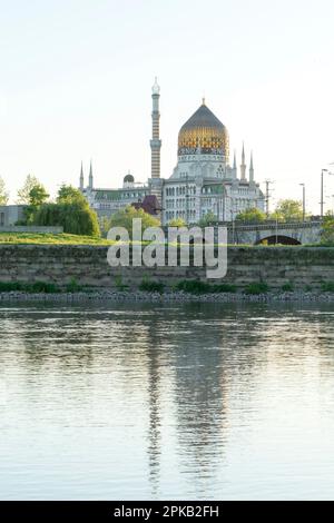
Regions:
<instances>
[{"instance_id":1,"label":"large pointed dome with glowing golden panels atop the pale building","mask_svg":"<svg viewBox=\"0 0 334 523\"><path fill-rule=\"evenodd\" d=\"M229 157L229 140L226 127L206 107L205 100L197 111L181 127L178 135L178 155L203 155Z\"/></svg>"}]
</instances>

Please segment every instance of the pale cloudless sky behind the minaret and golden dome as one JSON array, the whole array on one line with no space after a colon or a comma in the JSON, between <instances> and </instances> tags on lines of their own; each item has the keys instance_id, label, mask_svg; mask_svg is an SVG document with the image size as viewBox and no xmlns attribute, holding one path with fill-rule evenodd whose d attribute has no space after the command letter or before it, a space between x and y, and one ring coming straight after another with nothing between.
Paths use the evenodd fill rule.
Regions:
<instances>
[{"instance_id":1,"label":"pale cloudless sky behind the minaret and golden dome","mask_svg":"<svg viewBox=\"0 0 334 523\"><path fill-rule=\"evenodd\" d=\"M161 87L161 176L205 95L240 164L271 179L272 206L320 214L334 162L333 0L0 0L0 176L17 198L28 174L55 195L150 175L151 86ZM333 166L334 170L334 166ZM326 209L334 176L325 176Z\"/></svg>"}]
</instances>

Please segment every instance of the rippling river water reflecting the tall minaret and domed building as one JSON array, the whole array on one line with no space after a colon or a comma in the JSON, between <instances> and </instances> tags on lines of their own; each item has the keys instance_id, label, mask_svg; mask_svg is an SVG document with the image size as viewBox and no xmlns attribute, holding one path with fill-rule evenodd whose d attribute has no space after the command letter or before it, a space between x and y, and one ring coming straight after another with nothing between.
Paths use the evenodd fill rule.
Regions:
<instances>
[{"instance_id":1,"label":"rippling river water reflecting the tall minaret and domed building","mask_svg":"<svg viewBox=\"0 0 334 523\"><path fill-rule=\"evenodd\" d=\"M1 305L1 500L334 499L333 443L333 305Z\"/></svg>"}]
</instances>

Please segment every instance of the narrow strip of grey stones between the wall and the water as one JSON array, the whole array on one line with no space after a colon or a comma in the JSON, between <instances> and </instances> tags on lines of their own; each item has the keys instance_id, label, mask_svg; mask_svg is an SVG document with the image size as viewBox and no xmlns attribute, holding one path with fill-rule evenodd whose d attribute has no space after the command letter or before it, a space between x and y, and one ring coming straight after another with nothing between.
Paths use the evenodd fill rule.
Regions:
<instances>
[{"instance_id":1,"label":"narrow strip of grey stones between the wall and the water","mask_svg":"<svg viewBox=\"0 0 334 523\"><path fill-rule=\"evenodd\" d=\"M143 303L334 303L334 293L313 292L268 292L249 295L245 293L193 294L185 292L126 292L111 289L94 289L76 293L0 293L1 302L50 302L50 303L85 303L85 302L143 302Z\"/></svg>"}]
</instances>

